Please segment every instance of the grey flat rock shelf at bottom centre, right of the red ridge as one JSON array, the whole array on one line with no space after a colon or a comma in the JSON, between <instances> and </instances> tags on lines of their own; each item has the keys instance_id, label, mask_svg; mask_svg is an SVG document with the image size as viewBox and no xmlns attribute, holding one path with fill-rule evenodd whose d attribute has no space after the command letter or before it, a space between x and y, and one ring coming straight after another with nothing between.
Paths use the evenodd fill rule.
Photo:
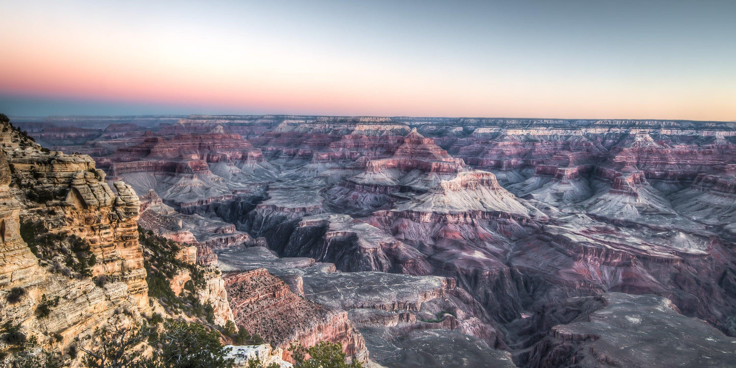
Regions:
<instances>
[{"instance_id":1,"label":"grey flat rock shelf at bottom centre, right of the red ridge","mask_svg":"<svg viewBox=\"0 0 736 368\"><path fill-rule=\"evenodd\" d=\"M369 336L367 348L378 355L372 359L382 365L397 367L395 364L399 363L392 365L384 360L411 354L411 350L399 346L420 339L414 337L414 331L454 330L457 333L452 336L457 339L453 341L468 342L467 349L478 354L495 356L501 353L487 346L505 347L484 308L466 291L456 288L451 278L335 272L330 263L318 263L311 258L277 258L258 247L224 250L219 256L221 268L266 267L284 280L294 294L332 310L347 311L353 325ZM418 336L423 335L418 333ZM445 337L436 342L450 344ZM480 348L483 345L486 347ZM461 361L466 350L460 346L456 347L458 350L447 351L445 359ZM501 355L504 361L510 361L507 355ZM430 364L429 367L442 366Z\"/></svg>"}]
</instances>

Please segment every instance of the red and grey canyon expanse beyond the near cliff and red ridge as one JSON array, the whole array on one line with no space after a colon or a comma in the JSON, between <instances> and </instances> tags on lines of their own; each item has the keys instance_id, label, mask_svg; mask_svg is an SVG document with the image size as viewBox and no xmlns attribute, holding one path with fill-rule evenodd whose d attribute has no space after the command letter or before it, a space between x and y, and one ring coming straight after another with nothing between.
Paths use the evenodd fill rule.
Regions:
<instances>
[{"instance_id":1,"label":"red and grey canyon expanse beyond the near cliff and red ridge","mask_svg":"<svg viewBox=\"0 0 736 368\"><path fill-rule=\"evenodd\" d=\"M141 222L202 244L198 259L265 267L347 312L386 367L509 358L499 349L523 367L651 363L654 342L631 348L640 361L606 361L586 353L595 343L556 335L572 319L548 306L571 297L589 300L565 302L581 315L623 316L596 300L645 314L654 307L631 295L654 294L676 306L673 320L736 336L734 123L191 116L90 128L99 137L43 136L146 194Z\"/></svg>"}]
</instances>

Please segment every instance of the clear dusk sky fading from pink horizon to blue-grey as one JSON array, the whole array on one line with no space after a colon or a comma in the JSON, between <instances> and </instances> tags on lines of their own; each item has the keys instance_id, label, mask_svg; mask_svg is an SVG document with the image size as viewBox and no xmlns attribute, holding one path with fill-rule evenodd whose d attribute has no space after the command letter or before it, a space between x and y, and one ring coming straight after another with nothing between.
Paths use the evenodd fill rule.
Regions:
<instances>
[{"instance_id":1,"label":"clear dusk sky fading from pink horizon to blue-grey","mask_svg":"<svg viewBox=\"0 0 736 368\"><path fill-rule=\"evenodd\" d=\"M736 120L736 1L0 1L10 116Z\"/></svg>"}]
</instances>

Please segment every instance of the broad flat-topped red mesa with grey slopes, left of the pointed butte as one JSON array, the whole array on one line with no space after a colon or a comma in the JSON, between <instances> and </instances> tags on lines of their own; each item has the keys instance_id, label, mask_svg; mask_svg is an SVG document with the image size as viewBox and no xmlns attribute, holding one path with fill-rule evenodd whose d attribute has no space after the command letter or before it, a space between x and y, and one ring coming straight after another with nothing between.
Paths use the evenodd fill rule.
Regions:
<instances>
[{"instance_id":1,"label":"broad flat-topped red mesa with grey slopes, left of the pointed butte","mask_svg":"<svg viewBox=\"0 0 736 368\"><path fill-rule=\"evenodd\" d=\"M113 177L123 178L141 193L155 189L182 213L252 194L255 190L245 183L247 177L254 172L269 175L261 151L219 125L197 135L152 136L137 146L118 149L110 160Z\"/></svg>"}]
</instances>

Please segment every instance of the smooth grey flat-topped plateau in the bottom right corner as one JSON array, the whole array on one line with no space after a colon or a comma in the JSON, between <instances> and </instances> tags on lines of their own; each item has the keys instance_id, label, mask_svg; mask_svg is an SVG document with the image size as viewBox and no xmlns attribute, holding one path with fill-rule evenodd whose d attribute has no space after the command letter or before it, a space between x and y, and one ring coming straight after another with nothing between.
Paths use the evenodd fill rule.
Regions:
<instances>
[{"instance_id":1,"label":"smooth grey flat-topped plateau in the bottom right corner","mask_svg":"<svg viewBox=\"0 0 736 368\"><path fill-rule=\"evenodd\" d=\"M595 297L568 300L584 305ZM682 316L663 297L603 294L584 311L551 328L534 345L527 367L730 367L736 339L698 319ZM565 308L562 305L558 309ZM548 314L565 313L547 311Z\"/></svg>"}]
</instances>

